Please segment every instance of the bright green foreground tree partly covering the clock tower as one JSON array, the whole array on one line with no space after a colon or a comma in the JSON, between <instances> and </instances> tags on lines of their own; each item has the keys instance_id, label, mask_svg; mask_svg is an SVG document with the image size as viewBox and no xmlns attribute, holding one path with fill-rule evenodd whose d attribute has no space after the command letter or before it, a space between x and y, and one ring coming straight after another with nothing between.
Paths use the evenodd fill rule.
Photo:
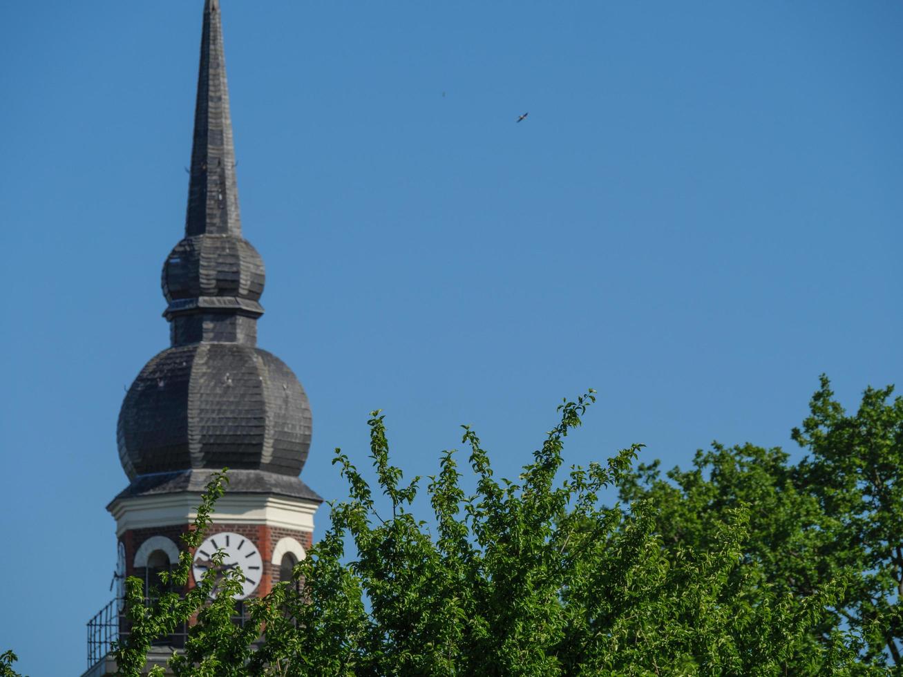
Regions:
<instances>
[{"instance_id":1,"label":"bright green foreground tree partly covering the clock tower","mask_svg":"<svg viewBox=\"0 0 903 677\"><path fill-rule=\"evenodd\" d=\"M371 458L385 514L337 450L349 500L332 505L329 531L296 568L301 592L278 586L237 628L228 595L207 603L201 590L183 607L164 597L146 609L139 581L129 581L130 618L147 630L120 648L122 673L137 673L147 637L198 610L185 651L172 660L177 674L747 675L851 665L843 642L810 642L822 609L840 594L836 584L806 596L742 594L766 579L761 565L743 560L748 507L712 521L705 548L675 549L656 528L653 501L601 503L603 489L632 477L640 445L556 482L564 438L594 399L591 392L559 407L560 422L517 483L494 478L465 428L476 491L461 488L456 454L446 452L426 485L432 527L414 515L420 478L405 483L391 465L385 419L374 413ZM188 567L185 558L177 582Z\"/></svg>"}]
</instances>

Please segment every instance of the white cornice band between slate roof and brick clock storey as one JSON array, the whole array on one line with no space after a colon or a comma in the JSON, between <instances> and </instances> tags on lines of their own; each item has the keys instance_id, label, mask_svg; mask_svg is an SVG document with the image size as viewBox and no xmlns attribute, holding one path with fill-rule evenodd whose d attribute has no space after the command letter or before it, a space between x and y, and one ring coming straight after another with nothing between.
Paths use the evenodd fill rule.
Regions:
<instances>
[{"instance_id":1,"label":"white cornice band between slate roof and brick clock storey","mask_svg":"<svg viewBox=\"0 0 903 677\"><path fill-rule=\"evenodd\" d=\"M108 506L116 519L116 536L130 529L190 524L198 516L200 493L117 498ZM269 494L233 494L217 501L213 524L265 524L313 531L314 501Z\"/></svg>"}]
</instances>

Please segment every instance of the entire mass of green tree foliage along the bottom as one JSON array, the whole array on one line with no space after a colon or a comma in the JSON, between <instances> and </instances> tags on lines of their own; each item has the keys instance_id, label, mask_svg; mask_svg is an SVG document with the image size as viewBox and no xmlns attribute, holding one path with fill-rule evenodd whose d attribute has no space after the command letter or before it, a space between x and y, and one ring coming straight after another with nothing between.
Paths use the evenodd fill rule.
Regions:
<instances>
[{"instance_id":1,"label":"entire mass of green tree foliage along the bottom","mask_svg":"<svg viewBox=\"0 0 903 677\"><path fill-rule=\"evenodd\" d=\"M559 406L517 482L493 476L465 426L472 494L453 451L435 476L405 482L374 412L385 498L336 450L348 500L295 568L301 584L252 602L244 626L232 622L239 570L149 606L127 580L120 674L139 674L154 639L192 617L177 675L887 674L903 640L903 400L891 392L867 390L848 415L823 377L793 433L799 463L715 444L663 477L657 463L632 467L642 445L563 468L590 391ZM187 584L227 481L211 481L163 582ZM413 505L422 485L429 524ZM602 502L607 489L620 505ZM14 658L0 656L0 675Z\"/></svg>"}]
</instances>

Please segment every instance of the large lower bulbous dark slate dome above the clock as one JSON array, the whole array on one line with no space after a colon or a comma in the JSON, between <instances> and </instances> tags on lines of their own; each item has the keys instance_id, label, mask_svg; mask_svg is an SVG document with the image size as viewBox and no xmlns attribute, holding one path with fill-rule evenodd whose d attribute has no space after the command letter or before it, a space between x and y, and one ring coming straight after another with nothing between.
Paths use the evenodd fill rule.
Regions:
<instances>
[{"instance_id":1,"label":"large lower bulbous dark slate dome above the clock","mask_svg":"<svg viewBox=\"0 0 903 677\"><path fill-rule=\"evenodd\" d=\"M154 357L126 394L116 437L126 475L224 467L293 478L311 446L302 385L274 355L200 342Z\"/></svg>"}]
</instances>

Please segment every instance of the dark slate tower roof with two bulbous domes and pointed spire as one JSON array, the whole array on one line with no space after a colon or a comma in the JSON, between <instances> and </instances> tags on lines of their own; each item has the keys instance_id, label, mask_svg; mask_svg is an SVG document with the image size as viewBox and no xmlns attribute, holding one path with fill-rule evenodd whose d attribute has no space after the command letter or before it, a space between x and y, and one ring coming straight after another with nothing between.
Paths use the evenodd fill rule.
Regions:
<instances>
[{"instance_id":1,"label":"dark slate tower roof with two bulbous domes and pointed spire","mask_svg":"<svg viewBox=\"0 0 903 677\"><path fill-rule=\"evenodd\" d=\"M241 235L219 1L207 0L185 237L163 264L172 345L119 413L124 495L191 490L228 467L249 491L316 497L298 479L311 445L307 395L256 347L264 283L263 259Z\"/></svg>"}]
</instances>

